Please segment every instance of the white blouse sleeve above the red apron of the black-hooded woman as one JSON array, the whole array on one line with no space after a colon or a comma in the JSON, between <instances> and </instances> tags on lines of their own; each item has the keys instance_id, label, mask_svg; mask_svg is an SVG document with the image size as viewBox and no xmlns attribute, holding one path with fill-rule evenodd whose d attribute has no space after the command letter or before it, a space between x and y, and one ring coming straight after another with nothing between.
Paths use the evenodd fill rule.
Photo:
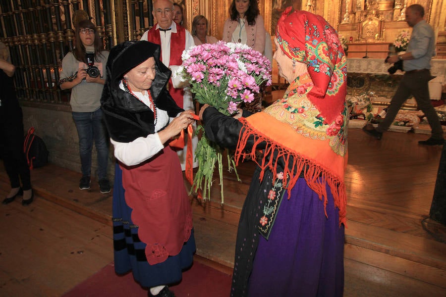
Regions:
<instances>
[{"instance_id":1,"label":"white blouse sleeve above the red apron of the black-hooded woman","mask_svg":"<svg viewBox=\"0 0 446 297\"><path fill-rule=\"evenodd\" d=\"M138 137L132 142L121 143L110 139L114 146L114 156L127 166L138 165L150 159L164 148L158 133Z\"/></svg>"}]
</instances>

